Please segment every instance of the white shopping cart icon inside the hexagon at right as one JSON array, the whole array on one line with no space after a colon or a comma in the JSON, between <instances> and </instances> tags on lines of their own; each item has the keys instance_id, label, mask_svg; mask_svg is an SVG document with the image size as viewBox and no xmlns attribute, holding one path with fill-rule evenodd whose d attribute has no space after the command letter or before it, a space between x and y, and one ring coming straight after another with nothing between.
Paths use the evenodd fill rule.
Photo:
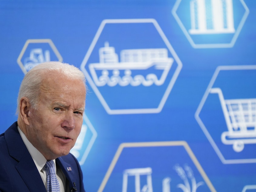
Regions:
<instances>
[{"instance_id":1,"label":"white shopping cart icon inside the hexagon at right","mask_svg":"<svg viewBox=\"0 0 256 192\"><path fill-rule=\"evenodd\" d=\"M217 93L221 102L228 131L221 134L221 141L233 145L236 152L244 149L244 144L256 143L256 98L224 99L220 88L211 88L210 93Z\"/></svg>"}]
</instances>

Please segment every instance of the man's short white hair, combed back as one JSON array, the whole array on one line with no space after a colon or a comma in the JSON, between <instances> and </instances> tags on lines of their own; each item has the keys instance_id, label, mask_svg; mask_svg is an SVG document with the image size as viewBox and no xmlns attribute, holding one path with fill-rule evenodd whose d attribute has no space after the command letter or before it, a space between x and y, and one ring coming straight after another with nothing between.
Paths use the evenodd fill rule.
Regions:
<instances>
[{"instance_id":1,"label":"man's short white hair, combed back","mask_svg":"<svg viewBox=\"0 0 256 192\"><path fill-rule=\"evenodd\" d=\"M40 86L44 80L44 75L49 72L57 72L66 76L68 79L78 79L82 80L85 84L85 75L80 69L74 65L69 65L67 63L61 63L58 61L49 61L41 63L32 68L22 80L20 85L18 99L17 99L17 110L16 113L19 113L20 108L20 99L26 97L29 99L32 108L37 108L38 98L40 93ZM86 85L85 85L86 87Z\"/></svg>"}]
</instances>

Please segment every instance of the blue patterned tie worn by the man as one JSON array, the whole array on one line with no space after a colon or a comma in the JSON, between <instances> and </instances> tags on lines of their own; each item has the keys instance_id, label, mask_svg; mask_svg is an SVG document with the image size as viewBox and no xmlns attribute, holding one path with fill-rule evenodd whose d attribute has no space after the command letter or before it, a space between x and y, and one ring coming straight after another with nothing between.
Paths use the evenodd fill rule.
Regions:
<instances>
[{"instance_id":1,"label":"blue patterned tie worn by the man","mask_svg":"<svg viewBox=\"0 0 256 192\"><path fill-rule=\"evenodd\" d=\"M55 165L52 160L45 164L47 192L60 192L60 184L56 177Z\"/></svg>"}]
</instances>

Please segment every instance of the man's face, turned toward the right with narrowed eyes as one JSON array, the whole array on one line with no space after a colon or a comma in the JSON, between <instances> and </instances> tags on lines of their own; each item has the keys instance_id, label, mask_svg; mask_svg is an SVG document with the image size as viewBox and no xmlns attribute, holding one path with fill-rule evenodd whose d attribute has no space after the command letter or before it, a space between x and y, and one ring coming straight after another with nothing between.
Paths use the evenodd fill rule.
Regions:
<instances>
[{"instance_id":1,"label":"man's face, turned toward the right with narrowed eyes","mask_svg":"<svg viewBox=\"0 0 256 192\"><path fill-rule=\"evenodd\" d=\"M28 140L47 160L67 155L81 131L85 85L50 73L38 94L38 110L30 108L28 114Z\"/></svg>"}]
</instances>

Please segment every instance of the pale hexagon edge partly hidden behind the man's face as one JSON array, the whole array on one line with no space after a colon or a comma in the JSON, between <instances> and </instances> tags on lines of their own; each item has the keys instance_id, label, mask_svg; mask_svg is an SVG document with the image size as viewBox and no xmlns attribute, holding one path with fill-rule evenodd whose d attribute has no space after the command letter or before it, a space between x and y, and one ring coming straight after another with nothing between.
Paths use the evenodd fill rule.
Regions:
<instances>
[{"instance_id":1,"label":"pale hexagon edge partly hidden behind the man's face","mask_svg":"<svg viewBox=\"0 0 256 192\"><path fill-rule=\"evenodd\" d=\"M89 152L91 151L91 147L94 144L96 137L97 137L97 131L94 129L94 127L92 126L91 122L89 121L88 117L84 114L84 121L86 122L86 124L88 125L88 128L90 129L91 133L92 133L92 137L85 149L85 152L81 158L81 160L79 161L80 165L83 165L85 163L86 158L88 157Z\"/></svg>"}]
</instances>

